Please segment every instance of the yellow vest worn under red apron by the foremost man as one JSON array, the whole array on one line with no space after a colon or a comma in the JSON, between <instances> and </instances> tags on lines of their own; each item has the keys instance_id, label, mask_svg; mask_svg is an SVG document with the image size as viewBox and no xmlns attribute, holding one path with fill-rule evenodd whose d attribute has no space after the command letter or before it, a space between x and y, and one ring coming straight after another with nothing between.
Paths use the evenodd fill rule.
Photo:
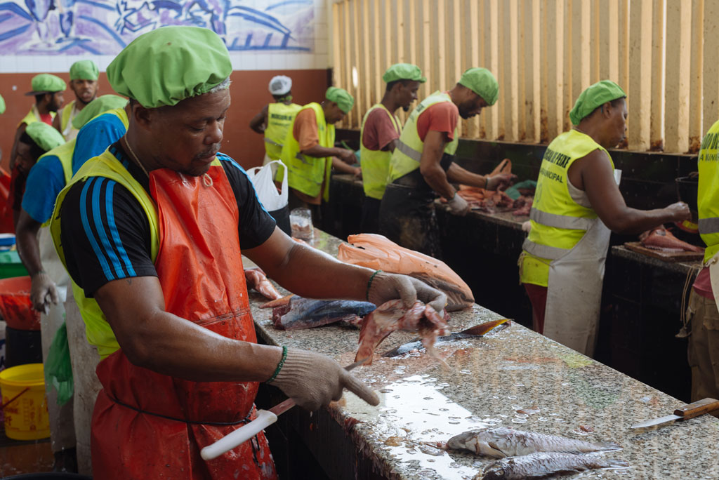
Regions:
<instances>
[{"instance_id":1,"label":"yellow vest worn under red apron by the foremost man","mask_svg":"<svg viewBox=\"0 0 719 480\"><path fill-rule=\"evenodd\" d=\"M215 159L212 165L221 164L219 160ZM152 262L155 262L160 246L155 202L152 200L152 197L150 197L150 194L145 191L145 188L142 188L142 185L137 183L137 180L134 180L119 160L117 160L109 150L106 150L99 157L93 157L91 160L88 160L85 165L78 170L72 180L70 180L70 183L60 191L58 200L55 202L55 211L52 213L52 221L50 223L50 234L52 234L55 249L58 251L58 257L60 257L60 261L63 262L65 268L67 268L65 253L63 251L63 245L60 243L60 222L62 221L60 208L63 206L63 200L65 200L65 195L68 193L68 190L70 190L70 187L89 177L106 177L115 180L127 188L134 198L137 198L140 206L142 206L142 210L145 211L148 223L150 223L150 257ZM101 359L105 359L107 356L119 350L120 347L115 338L115 334L96 300L87 298L83 289L78 287L74 281L73 294L75 295L75 301L80 307L80 312L85 322L88 342L97 347Z\"/></svg>"}]
</instances>

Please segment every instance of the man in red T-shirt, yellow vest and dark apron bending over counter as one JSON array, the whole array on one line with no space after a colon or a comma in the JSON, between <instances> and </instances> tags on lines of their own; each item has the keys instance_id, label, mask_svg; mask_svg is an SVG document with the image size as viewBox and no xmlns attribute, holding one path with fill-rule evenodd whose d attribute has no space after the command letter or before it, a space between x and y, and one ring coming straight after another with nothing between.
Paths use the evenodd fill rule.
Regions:
<instances>
[{"instance_id":1,"label":"man in red T-shirt, yellow vest and dark apron bending over counter","mask_svg":"<svg viewBox=\"0 0 719 480\"><path fill-rule=\"evenodd\" d=\"M486 68L470 68L449 91L436 91L412 111L390 160L388 185L380 205L380 233L408 249L441 258L436 195L449 210L469 211L450 182L495 190L510 175L478 175L457 165L459 117L471 119L497 101L499 85Z\"/></svg>"}]
</instances>

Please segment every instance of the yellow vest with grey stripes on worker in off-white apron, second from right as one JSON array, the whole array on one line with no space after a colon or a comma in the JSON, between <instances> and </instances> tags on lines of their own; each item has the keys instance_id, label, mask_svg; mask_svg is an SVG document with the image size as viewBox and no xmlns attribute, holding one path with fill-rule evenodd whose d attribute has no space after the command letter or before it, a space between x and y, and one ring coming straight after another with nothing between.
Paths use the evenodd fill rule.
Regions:
<instances>
[{"instance_id":1,"label":"yellow vest with grey stripes on worker in off-white apron, second from right","mask_svg":"<svg viewBox=\"0 0 719 480\"><path fill-rule=\"evenodd\" d=\"M554 139L539 167L534 202L529 214L532 229L524 242L520 258L519 281L547 286L549 262L562 257L582 239L597 218L589 207L581 206L569 195L567 172L574 160L586 157L596 149L607 153L592 137L577 130L565 131Z\"/></svg>"}]
</instances>

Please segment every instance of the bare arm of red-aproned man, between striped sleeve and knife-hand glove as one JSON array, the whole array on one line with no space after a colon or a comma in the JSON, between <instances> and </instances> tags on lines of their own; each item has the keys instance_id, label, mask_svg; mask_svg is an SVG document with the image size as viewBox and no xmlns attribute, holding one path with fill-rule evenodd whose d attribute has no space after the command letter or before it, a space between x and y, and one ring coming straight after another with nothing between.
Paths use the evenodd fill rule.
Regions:
<instances>
[{"instance_id":1,"label":"bare arm of red-aproned man, between striped sleeve and knife-hand glove","mask_svg":"<svg viewBox=\"0 0 719 480\"><path fill-rule=\"evenodd\" d=\"M282 349L232 340L165 311L157 277L112 280L95 292L132 364L194 381L264 381Z\"/></svg>"}]
</instances>

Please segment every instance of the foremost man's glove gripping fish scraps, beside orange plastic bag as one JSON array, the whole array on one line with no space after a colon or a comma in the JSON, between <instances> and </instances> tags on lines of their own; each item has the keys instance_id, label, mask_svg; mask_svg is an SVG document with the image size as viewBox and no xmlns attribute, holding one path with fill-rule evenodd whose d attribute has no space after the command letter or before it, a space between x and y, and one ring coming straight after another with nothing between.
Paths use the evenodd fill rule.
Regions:
<instances>
[{"instance_id":1,"label":"foremost man's glove gripping fish scraps, beside orange plastic bag","mask_svg":"<svg viewBox=\"0 0 719 480\"><path fill-rule=\"evenodd\" d=\"M370 280L367 290L367 300L377 306L390 300L400 298L406 308L410 308L417 300L431 305L434 310L441 313L447 304L444 292L436 290L421 280L396 273L377 272Z\"/></svg>"}]
</instances>

